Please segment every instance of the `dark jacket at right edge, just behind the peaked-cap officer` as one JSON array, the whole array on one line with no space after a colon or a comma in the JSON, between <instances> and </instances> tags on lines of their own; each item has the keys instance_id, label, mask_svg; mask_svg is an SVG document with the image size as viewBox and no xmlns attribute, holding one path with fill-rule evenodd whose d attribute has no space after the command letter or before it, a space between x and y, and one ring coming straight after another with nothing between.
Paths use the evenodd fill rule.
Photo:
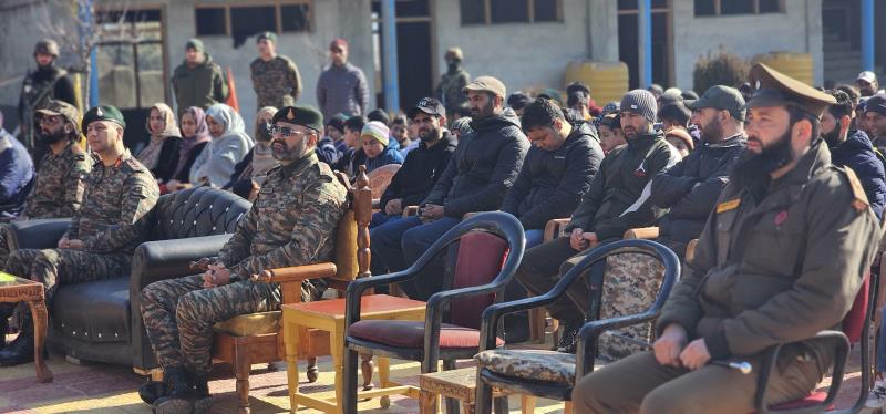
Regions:
<instances>
[{"instance_id":1,"label":"dark jacket at right edge, just behind the peaked-cap officer","mask_svg":"<svg viewBox=\"0 0 886 414\"><path fill-rule=\"evenodd\" d=\"M870 208L877 218L883 218L883 207L886 205L886 176L883 162L874 153L867 134L864 131L851 131L846 141L831 147L831 162L855 172L865 189Z\"/></svg>"}]
</instances>

